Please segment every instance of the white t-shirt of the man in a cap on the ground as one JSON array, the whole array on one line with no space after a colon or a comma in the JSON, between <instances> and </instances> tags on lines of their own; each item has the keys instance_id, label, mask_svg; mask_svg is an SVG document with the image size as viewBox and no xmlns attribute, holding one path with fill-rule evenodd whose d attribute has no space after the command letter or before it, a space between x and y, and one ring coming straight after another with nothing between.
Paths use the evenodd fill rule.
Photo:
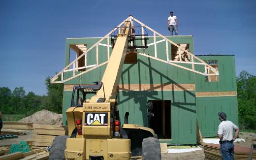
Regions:
<instances>
[{"instance_id":1,"label":"white t-shirt of the man in a cap on the ground","mask_svg":"<svg viewBox=\"0 0 256 160\"><path fill-rule=\"evenodd\" d=\"M231 121L222 121L218 127L218 134L223 135L223 141L231 141L233 139L233 130L237 128Z\"/></svg>"}]
</instances>

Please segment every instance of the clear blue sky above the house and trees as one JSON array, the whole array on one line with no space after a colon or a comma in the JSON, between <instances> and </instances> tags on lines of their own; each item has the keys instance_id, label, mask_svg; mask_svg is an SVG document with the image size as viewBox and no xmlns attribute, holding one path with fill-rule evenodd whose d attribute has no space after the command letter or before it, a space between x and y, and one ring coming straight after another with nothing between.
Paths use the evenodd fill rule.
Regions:
<instances>
[{"instance_id":1,"label":"clear blue sky above the house and trees","mask_svg":"<svg viewBox=\"0 0 256 160\"><path fill-rule=\"evenodd\" d=\"M195 55L233 54L256 75L256 0L0 0L0 87L46 95L64 68L65 38L102 37L129 14L163 35L169 12Z\"/></svg>"}]
</instances>

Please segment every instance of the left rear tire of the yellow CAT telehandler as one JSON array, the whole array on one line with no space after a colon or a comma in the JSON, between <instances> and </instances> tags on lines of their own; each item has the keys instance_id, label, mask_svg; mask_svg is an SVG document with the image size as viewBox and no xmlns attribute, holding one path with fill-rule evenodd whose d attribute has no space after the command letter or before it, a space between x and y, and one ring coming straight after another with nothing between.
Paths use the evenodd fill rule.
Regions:
<instances>
[{"instance_id":1,"label":"left rear tire of the yellow CAT telehandler","mask_svg":"<svg viewBox=\"0 0 256 160\"><path fill-rule=\"evenodd\" d=\"M56 136L53 140L49 160L65 160L66 135Z\"/></svg>"}]
</instances>

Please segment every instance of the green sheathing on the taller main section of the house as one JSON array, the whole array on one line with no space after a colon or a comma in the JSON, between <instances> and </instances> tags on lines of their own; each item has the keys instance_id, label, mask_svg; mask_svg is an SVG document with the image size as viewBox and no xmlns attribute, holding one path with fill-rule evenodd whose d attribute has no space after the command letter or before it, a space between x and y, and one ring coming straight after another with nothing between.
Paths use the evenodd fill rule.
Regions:
<instances>
[{"instance_id":1,"label":"green sheathing on the taller main section of the house","mask_svg":"<svg viewBox=\"0 0 256 160\"><path fill-rule=\"evenodd\" d=\"M193 53L192 36L168 36L175 43L190 44L190 52ZM69 45L87 44L89 49L100 38L78 38L66 40L65 66L69 64ZM157 40L162 38L157 37ZM153 37L149 37L149 43L153 42ZM102 42L106 44L105 42ZM171 45L169 48L169 59L171 59ZM141 50L139 50L141 51ZM155 57L154 45L145 49L146 54ZM111 51L110 51L111 53ZM157 44L158 58L166 60L165 42ZM107 60L107 48L99 46L99 63ZM96 49L87 55L87 63L96 64ZM181 64L191 68L189 64ZM64 84L91 84L101 80L106 64L88 73L65 82ZM79 72L76 72L76 74ZM70 77L72 72L65 73L64 77ZM110 77L111 78L111 77ZM161 63L153 59L138 55L137 64L124 64L120 84L194 84L194 73L169 64ZM66 125L66 109L70 106L71 91L64 91L63 100L63 122ZM170 144L196 144L195 130L195 96L194 91L120 91L119 110L120 118L124 120L124 114L129 111L129 123L147 126L146 102L148 100L171 100L172 108L172 140Z\"/></svg>"}]
</instances>

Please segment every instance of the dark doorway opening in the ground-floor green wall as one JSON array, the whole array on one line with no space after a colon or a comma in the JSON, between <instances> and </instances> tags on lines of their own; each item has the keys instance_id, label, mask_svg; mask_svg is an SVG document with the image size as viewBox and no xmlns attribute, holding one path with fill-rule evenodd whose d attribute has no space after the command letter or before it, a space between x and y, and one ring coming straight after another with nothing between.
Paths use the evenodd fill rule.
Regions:
<instances>
[{"instance_id":1,"label":"dark doorway opening in the ground-floor green wall","mask_svg":"<svg viewBox=\"0 0 256 160\"><path fill-rule=\"evenodd\" d=\"M149 118L149 127L154 129L158 138L171 139L171 101L170 100L150 100L153 103Z\"/></svg>"}]
</instances>

